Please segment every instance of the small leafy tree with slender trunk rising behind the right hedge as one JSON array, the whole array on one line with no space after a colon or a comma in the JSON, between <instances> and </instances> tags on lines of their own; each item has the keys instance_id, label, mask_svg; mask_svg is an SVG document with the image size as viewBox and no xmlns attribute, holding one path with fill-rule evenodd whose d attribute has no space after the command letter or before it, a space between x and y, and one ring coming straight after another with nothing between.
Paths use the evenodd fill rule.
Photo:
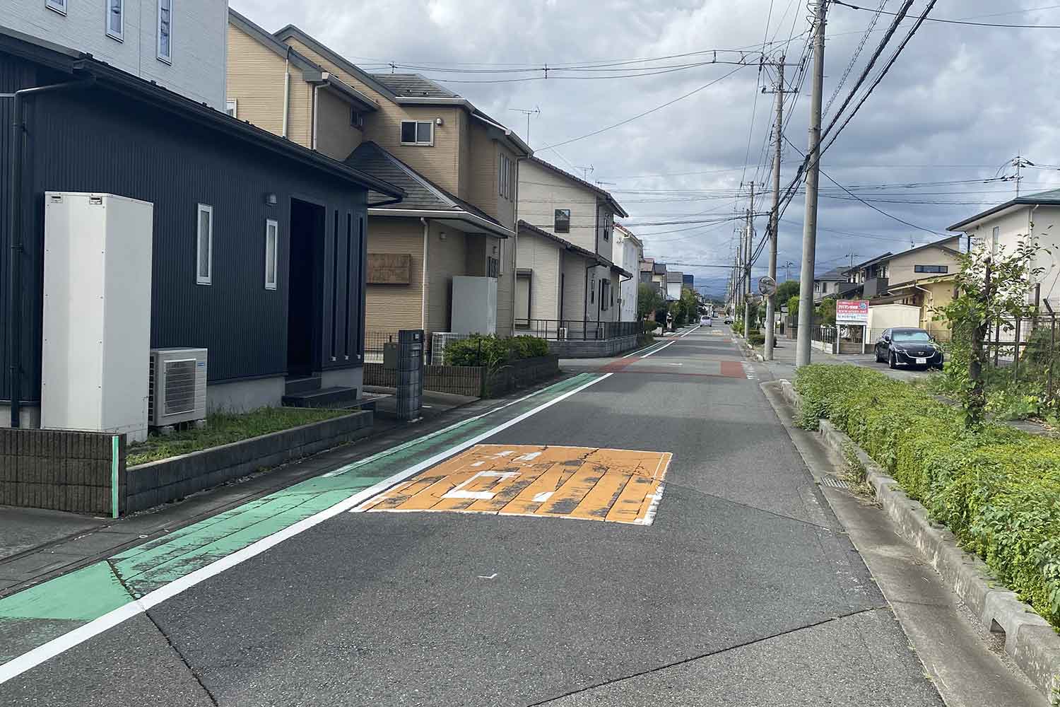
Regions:
<instances>
[{"instance_id":1,"label":"small leafy tree with slender trunk rising behind the right hedge","mask_svg":"<svg viewBox=\"0 0 1060 707\"><path fill-rule=\"evenodd\" d=\"M1024 238L1011 253L999 248L991 253L977 243L970 253L957 255L959 271L956 294L941 308L937 319L950 325L947 378L965 411L965 425L983 424L986 411L984 369L987 352L984 342L991 326L1001 332L1013 330L1017 318L1035 314L1028 295L1044 268L1035 265L1041 248L1034 238Z\"/></svg>"}]
</instances>

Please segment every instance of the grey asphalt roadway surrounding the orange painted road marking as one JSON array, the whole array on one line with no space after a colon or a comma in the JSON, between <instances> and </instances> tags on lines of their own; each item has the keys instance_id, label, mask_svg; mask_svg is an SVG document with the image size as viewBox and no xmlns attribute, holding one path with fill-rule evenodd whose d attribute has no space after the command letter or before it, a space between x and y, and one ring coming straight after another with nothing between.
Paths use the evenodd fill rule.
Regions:
<instances>
[{"instance_id":1,"label":"grey asphalt roadway surrounding the orange painted road marking","mask_svg":"<svg viewBox=\"0 0 1060 707\"><path fill-rule=\"evenodd\" d=\"M339 513L0 705L941 706L720 329L582 365L482 441L672 453L652 525Z\"/></svg>"}]
</instances>

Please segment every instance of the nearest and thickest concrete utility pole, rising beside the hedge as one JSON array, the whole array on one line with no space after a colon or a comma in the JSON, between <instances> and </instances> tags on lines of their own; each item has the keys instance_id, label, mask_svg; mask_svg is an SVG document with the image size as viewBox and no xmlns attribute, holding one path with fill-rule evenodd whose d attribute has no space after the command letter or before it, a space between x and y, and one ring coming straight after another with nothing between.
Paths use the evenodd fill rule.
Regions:
<instances>
[{"instance_id":1,"label":"nearest and thickest concrete utility pole, rising beside the hedge","mask_svg":"<svg viewBox=\"0 0 1060 707\"><path fill-rule=\"evenodd\" d=\"M814 1L813 95L810 101L809 172L806 176L806 217L802 223L802 271L798 288L798 339L795 365L810 364L810 326L813 324L813 261L817 253L817 182L820 179L820 99L825 85L826 0Z\"/></svg>"}]
</instances>

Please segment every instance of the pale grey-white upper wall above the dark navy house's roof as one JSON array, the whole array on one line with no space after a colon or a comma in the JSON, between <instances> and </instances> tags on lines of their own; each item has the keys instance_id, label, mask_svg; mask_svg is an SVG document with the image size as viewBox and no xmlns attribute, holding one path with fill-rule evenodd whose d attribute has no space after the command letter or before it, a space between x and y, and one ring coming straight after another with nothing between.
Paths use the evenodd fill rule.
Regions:
<instances>
[{"instance_id":1,"label":"pale grey-white upper wall above the dark navy house's roof","mask_svg":"<svg viewBox=\"0 0 1060 707\"><path fill-rule=\"evenodd\" d=\"M6 0L0 24L87 52L199 103L225 109L226 0L173 0L172 63L158 58L158 0L125 0L121 41L107 35L104 0L68 0L66 15L45 0Z\"/></svg>"}]
</instances>

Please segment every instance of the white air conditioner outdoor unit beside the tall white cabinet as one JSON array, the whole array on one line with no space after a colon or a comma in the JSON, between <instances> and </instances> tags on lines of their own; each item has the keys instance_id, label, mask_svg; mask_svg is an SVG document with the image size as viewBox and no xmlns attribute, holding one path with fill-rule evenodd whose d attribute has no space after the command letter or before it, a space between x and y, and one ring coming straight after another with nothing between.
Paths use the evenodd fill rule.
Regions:
<instances>
[{"instance_id":1,"label":"white air conditioner outdoor unit beside the tall white cabinet","mask_svg":"<svg viewBox=\"0 0 1060 707\"><path fill-rule=\"evenodd\" d=\"M206 419L206 349L152 349L147 424Z\"/></svg>"}]
</instances>

